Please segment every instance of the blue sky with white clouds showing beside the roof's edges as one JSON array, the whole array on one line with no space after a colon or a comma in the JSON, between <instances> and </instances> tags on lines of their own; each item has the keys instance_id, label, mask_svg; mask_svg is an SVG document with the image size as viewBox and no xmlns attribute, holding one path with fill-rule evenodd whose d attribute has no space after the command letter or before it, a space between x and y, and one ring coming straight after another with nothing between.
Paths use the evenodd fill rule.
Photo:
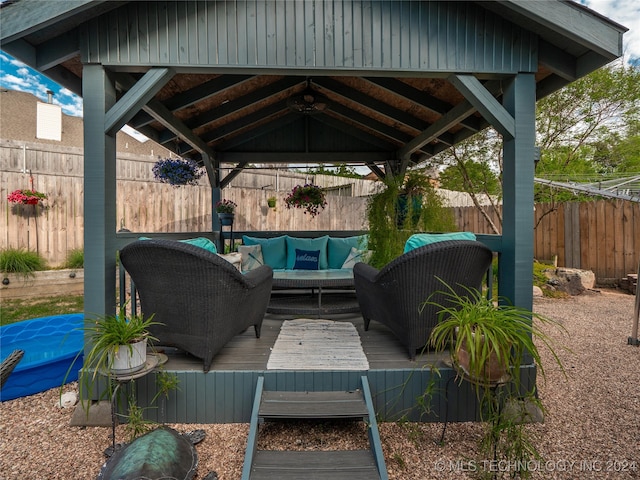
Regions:
<instances>
[{"instance_id":1,"label":"blue sky with white clouds showing beside the roof's edges","mask_svg":"<svg viewBox=\"0 0 640 480\"><path fill-rule=\"evenodd\" d=\"M629 28L624 35L625 60L640 66L640 0L581 0L596 12ZM47 90L67 115L82 116L82 99L44 75L0 51L0 87L29 92L42 101Z\"/></svg>"}]
</instances>

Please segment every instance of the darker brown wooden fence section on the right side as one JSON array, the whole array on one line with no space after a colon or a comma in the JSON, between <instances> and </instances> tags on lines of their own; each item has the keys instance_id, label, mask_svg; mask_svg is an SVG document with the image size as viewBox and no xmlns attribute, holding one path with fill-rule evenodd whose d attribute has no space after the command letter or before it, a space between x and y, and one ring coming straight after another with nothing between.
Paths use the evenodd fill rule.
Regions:
<instances>
[{"instance_id":1,"label":"darker brown wooden fence section on the right side","mask_svg":"<svg viewBox=\"0 0 640 480\"><path fill-rule=\"evenodd\" d=\"M461 230L494 233L473 207L454 208ZM501 213L501 212L500 212ZM489 213L500 226L498 215ZM640 262L640 203L624 200L536 204L534 255L558 266L592 270L600 283L619 281Z\"/></svg>"}]
</instances>

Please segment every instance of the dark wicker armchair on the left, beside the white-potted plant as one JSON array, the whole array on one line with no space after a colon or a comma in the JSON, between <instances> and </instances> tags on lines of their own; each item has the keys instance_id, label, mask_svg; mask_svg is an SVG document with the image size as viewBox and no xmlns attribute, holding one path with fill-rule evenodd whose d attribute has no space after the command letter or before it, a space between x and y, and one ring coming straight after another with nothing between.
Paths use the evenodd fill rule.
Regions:
<instances>
[{"instance_id":1,"label":"dark wicker armchair on the left, beside the white-potted plant","mask_svg":"<svg viewBox=\"0 0 640 480\"><path fill-rule=\"evenodd\" d=\"M271 296L273 271L245 274L218 255L173 240L139 240L120 251L140 297L142 312L155 313L150 327L159 345L211 361L235 335L253 325L260 337Z\"/></svg>"}]
</instances>

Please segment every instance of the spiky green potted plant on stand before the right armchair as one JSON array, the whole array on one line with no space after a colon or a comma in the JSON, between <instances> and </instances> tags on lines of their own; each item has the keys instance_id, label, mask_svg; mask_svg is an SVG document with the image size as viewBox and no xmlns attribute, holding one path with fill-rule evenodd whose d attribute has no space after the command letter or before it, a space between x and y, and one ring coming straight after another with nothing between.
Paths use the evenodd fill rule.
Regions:
<instances>
[{"instance_id":1,"label":"spiky green potted plant on stand before the right armchair","mask_svg":"<svg viewBox=\"0 0 640 480\"><path fill-rule=\"evenodd\" d=\"M444 284L444 282L443 282ZM544 365L538 345L549 349L562 371L562 364L543 326L559 326L558 322L524 308L498 303L476 289L464 287L458 294L450 285L434 293L425 303L437 305L438 324L431 332L430 344L437 352L449 349L460 381L474 385L480 415L486 421L485 435L480 439L484 454L494 462L539 460L535 444L525 424L540 421L542 404L535 386L527 388L520 379L520 366L525 355L536 363L541 378ZM441 300L431 299L436 295ZM443 437L441 441L444 439ZM528 471L521 472L525 478Z\"/></svg>"}]
</instances>

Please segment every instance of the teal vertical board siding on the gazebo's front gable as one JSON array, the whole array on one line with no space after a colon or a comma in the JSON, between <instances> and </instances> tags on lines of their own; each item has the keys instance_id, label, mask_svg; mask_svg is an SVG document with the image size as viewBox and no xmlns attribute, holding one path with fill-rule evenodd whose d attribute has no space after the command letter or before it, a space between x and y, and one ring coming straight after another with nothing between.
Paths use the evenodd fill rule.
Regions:
<instances>
[{"instance_id":1,"label":"teal vertical board siding on the gazebo's front gable","mask_svg":"<svg viewBox=\"0 0 640 480\"><path fill-rule=\"evenodd\" d=\"M83 61L104 65L407 74L537 68L536 35L468 2L132 2L88 22L84 36Z\"/></svg>"}]
</instances>

